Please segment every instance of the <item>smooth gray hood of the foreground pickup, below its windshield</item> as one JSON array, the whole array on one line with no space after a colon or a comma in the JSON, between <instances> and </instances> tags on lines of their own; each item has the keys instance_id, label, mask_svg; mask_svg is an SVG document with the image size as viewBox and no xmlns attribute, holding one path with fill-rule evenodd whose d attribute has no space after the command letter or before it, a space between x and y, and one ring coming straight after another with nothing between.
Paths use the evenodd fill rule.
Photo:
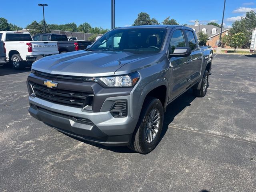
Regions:
<instances>
[{"instance_id":1,"label":"smooth gray hood of the foreground pickup, below its windshield","mask_svg":"<svg viewBox=\"0 0 256 192\"><path fill-rule=\"evenodd\" d=\"M44 57L34 62L32 69L69 76L112 76L120 67L145 56L130 52L81 50Z\"/></svg>"}]
</instances>

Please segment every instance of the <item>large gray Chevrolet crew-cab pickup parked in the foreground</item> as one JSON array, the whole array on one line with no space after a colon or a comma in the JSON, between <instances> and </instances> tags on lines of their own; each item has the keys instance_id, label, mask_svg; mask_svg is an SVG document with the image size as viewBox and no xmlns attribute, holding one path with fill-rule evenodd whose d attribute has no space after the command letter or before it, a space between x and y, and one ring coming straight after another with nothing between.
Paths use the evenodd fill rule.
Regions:
<instances>
[{"instance_id":1,"label":"large gray Chevrolet crew-cab pickup parked in the foreground","mask_svg":"<svg viewBox=\"0 0 256 192\"><path fill-rule=\"evenodd\" d=\"M34 62L29 112L65 134L147 154L168 104L189 88L205 96L211 65L212 49L186 26L115 28L87 50Z\"/></svg>"}]
</instances>

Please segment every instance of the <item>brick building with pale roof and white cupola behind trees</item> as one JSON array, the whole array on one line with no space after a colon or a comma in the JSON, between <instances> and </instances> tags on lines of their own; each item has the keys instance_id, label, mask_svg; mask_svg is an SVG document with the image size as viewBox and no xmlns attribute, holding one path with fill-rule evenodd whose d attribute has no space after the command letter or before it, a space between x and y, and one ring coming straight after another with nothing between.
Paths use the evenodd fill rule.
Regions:
<instances>
[{"instance_id":1,"label":"brick building with pale roof and white cupola behind trees","mask_svg":"<svg viewBox=\"0 0 256 192\"><path fill-rule=\"evenodd\" d=\"M194 25L188 25L188 27L192 28L196 32L196 36L198 36L199 32L203 32L208 35L208 41L206 45L210 45L212 47L218 46L220 42L220 30L221 28L214 25L202 25L199 24L199 21L196 20ZM229 29L222 29L222 37L228 35ZM230 48L229 46L225 46L225 48Z\"/></svg>"}]
</instances>

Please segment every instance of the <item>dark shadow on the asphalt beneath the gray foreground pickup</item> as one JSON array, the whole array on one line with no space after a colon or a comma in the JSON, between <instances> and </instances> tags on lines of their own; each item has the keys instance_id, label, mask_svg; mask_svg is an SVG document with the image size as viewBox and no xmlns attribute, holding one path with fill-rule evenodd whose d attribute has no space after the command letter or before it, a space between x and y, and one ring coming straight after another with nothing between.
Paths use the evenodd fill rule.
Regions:
<instances>
[{"instance_id":1,"label":"dark shadow on the asphalt beneath the gray foreground pickup","mask_svg":"<svg viewBox=\"0 0 256 192\"><path fill-rule=\"evenodd\" d=\"M171 104L168 105L166 113L164 114L164 124L163 124L162 133L161 133L161 136L160 136L160 142L161 142L162 138L164 137L164 135L166 134L166 132L168 130L168 125L174 120L175 116L177 114L179 114L184 108L186 108L186 106L190 106L190 103L195 98L196 97L193 96L193 94L192 94L192 89L189 89L187 92L182 94L180 97L178 97L176 100L174 100ZM92 146L96 146L98 148L110 150L110 151L113 151L113 152L117 152L117 153L135 153L134 151L130 150L126 146L109 147L109 146L104 146L104 145L101 145L101 144L93 143L93 142L90 142L90 141L82 140L82 139L79 139L79 138L76 138L76 137L73 137L73 136L70 136L70 135L67 135L67 136L72 137L72 138L74 138L76 140L79 140L81 142L84 142L86 144L90 144ZM204 192L204 191L202 191L202 192Z\"/></svg>"}]
</instances>

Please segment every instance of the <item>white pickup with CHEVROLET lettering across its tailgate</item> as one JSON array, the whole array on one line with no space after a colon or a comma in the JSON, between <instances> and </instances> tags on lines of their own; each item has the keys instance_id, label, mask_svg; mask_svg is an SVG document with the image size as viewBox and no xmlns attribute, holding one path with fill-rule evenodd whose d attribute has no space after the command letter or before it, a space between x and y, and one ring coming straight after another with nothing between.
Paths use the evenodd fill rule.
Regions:
<instances>
[{"instance_id":1,"label":"white pickup with CHEVROLET lettering across its tailgate","mask_svg":"<svg viewBox=\"0 0 256 192\"><path fill-rule=\"evenodd\" d=\"M58 42L33 41L28 32L0 31L5 44L6 61L14 68L31 66L32 62L49 55L58 54Z\"/></svg>"}]
</instances>

